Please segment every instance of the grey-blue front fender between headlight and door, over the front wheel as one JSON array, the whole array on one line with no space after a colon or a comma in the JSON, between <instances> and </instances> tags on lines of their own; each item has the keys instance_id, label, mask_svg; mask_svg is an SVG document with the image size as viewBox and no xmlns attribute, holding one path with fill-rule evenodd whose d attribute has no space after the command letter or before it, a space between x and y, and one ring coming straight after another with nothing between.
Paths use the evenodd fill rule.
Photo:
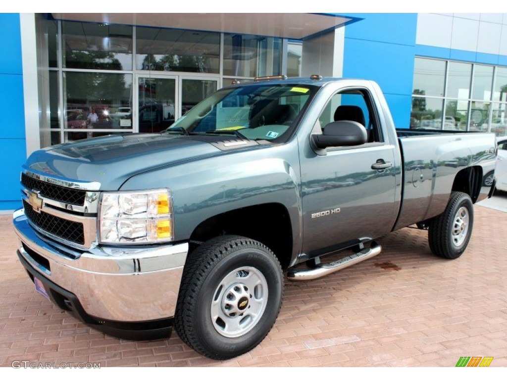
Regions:
<instances>
[{"instance_id":1,"label":"grey-blue front fender between headlight and door, over the front wheel","mask_svg":"<svg viewBox=\"0 0 507 380\"><path fill-rule=\"evenodd\" d=\"M294 259L301 248L302 204L297 144L292 145L225 152L150 170L131 177L121 190L169 187L176 241L189 240L202 221L215 215L249 206L281 204L291 219Z\"/></svg>"}]
</instances>

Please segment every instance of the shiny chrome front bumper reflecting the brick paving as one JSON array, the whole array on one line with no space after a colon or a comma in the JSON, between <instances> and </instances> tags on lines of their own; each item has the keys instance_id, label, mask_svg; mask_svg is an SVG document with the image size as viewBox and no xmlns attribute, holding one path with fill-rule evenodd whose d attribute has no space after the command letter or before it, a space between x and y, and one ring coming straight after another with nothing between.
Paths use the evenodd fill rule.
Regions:
<instances>
[{"instance_id":1,"label":"shiny chrome front bumper reflecting the brick paving","mask_svg":"<svg viewBox=\"0 0 507 380\"><path fill-rule=\"evenodd\" d=\"M94 320L130 323L174 316L188 243L94 247L71 258L68 247L35 232L23 210L13 214L13 222L27 270L75 295Z\"/></svg>"}]
</instances>

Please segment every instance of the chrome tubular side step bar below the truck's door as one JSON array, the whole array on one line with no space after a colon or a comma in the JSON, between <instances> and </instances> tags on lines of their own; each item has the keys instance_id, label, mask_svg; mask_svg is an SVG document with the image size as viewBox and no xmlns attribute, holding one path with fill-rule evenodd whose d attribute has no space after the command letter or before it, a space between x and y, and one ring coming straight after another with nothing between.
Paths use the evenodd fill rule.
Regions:
<instances>
[{"instance_id":1,"label":"chrome tubular side step bar below the truck's door","mask_svg":"<svg viewBox=\"0 0 507 380\"><path fill-rule=\"evenodd\" d=\"M306 281L320 278L340 269L350 267L350 265L357 264L358 262L369 259L373 256L377 256L382 252L382 247L376 242L372 242L370 248L363 248L357 253L353 253L350 256L341 258L337 261L329 263L316 263L314 268L303 269L303 270L289 270L287 272L287 279L291 281Z\"/></svg>"}]
</instances>

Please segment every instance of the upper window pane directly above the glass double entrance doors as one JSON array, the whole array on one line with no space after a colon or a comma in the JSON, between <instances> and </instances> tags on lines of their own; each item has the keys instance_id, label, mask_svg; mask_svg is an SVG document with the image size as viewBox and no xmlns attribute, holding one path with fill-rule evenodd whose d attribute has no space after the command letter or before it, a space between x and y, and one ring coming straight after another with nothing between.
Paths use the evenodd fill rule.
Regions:
<instances>
[{"instance_id":1,"label":"upper window pane directly above the glass double entrance doors","mask_svg":"<svg viewBox=\"0 0 507 380\"><path fill-rule=\"evenodd\" d=\"M220 33L138 27L136 49L138 70L220 70Z\"/></svg>"}]
</instances>

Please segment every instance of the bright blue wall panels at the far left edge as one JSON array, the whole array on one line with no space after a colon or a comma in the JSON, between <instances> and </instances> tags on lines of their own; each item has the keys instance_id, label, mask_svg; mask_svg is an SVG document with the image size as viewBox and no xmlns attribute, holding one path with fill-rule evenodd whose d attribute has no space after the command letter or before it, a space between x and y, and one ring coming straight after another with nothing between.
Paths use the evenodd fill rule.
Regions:
<instances>
[{"instance_id":1,"label":"bright blue wall panels at the far left edge","mask_svg":"<svg viewBox=\"0 0 507 380\"><path fill-rule=\"evenodd\" d=\"M0 210L21 207L19 173L26 160L21 31L18 13L0 13ZM35 52L33 52L35 54Z\"/></svg>"}]
</instances>

